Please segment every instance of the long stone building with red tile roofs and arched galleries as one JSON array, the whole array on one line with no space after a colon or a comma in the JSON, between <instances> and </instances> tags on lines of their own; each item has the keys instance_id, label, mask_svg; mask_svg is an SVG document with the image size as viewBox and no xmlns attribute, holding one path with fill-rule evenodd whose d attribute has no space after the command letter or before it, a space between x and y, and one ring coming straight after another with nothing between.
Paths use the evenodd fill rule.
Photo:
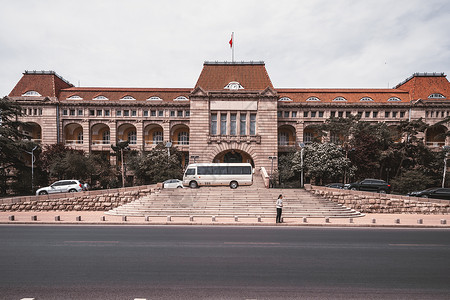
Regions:
<instances>
[{"instance_id":1,"label":"long stone building with red tile roofs and arched galleries","mask_svg":"<svg viewBox=\"0 0 450 300\"><path fill-rule=\"evenodd\" d=\"M193 88L75 87L53 71L25 71L8 95L23 107L20 120L29 125L22 131L43 145L109 157L119 141L142 151L171 142L185 164L250 162L266 169L276 168L273 157L311 142L311 125L330 117L359 115L393 130L401 120L434 125L450 115L449 97L443 73L415 73L392 89L280 89L264 62L205 62ZM430 127L427 145L448 145L447 129Z\"/></svg>"}]
</instances>

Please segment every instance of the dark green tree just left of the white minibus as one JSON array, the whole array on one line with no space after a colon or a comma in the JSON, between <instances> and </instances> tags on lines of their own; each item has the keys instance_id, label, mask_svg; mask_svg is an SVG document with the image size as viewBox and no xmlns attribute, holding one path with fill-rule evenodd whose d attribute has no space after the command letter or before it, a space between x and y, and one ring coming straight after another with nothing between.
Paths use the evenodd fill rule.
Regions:
<instances>
[{"instance_id":1,"label":"dark green tree just left of the white minibus","mask_svg":"<svg viewBox=\"0 0 450 300\"><path fill-rule=\"evenodd\" d=\"M158 144L151 151L140 152L131 156L128 160L128 167L134 171L136 182L139 184L152 184L162 182L170 178L183 177L181 165L181 152L176 147L167 148L163 144Z\"/></svg>"}]
</instances>

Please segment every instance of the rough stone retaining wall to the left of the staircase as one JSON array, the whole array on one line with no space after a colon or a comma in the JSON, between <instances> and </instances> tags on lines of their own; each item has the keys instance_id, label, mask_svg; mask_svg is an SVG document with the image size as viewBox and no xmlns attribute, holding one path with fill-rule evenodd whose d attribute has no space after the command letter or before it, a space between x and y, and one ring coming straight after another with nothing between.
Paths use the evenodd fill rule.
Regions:
<instances>
[{"instance_id":1,"label":"rough stone retaining wall to the left of the staircase","mask_svg":"<svg viewBox=\"0 0 450 300\"><path fill-rule=\"evenodd\" d=\"M0 199L0 211L108 211L154 193L160 185Z\"/></svg>"}]
</instances>

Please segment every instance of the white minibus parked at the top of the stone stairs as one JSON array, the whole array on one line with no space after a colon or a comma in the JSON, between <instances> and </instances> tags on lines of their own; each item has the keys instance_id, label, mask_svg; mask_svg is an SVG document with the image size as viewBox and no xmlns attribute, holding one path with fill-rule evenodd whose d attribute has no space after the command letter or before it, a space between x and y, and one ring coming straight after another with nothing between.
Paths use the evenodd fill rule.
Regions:
<instances>
[{"instance_id":1,"label":"white minibus parked at the top of the stone stairs","mask_svg":"<svg viewBox=\"0 0 450 300\"><path fill-rule=\"evenodd\" d=\"M239 185L253 183L253 169L249 163L190 164L183 176L183 185L196 188L201 185Z\"/></svg>"}]
</instances>

